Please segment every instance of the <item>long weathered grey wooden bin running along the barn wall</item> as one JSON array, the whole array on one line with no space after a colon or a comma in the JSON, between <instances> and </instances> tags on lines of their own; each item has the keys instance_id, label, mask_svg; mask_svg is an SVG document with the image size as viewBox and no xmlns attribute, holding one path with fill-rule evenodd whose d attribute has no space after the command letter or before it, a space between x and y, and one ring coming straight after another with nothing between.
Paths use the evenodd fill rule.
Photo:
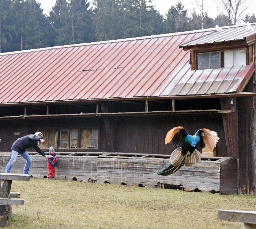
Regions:
<instances>
[{"instance_id":1,"label":"long weathered grey wooden bin running along the barn wall","mask_svg":"<svg viewBox=\"0 0 256 229\"><path fill-rule=\"evenodd\" d=\"M214 190L223 194L237 194L236 159L232 158L212 158L214 160L209 158L200 161L197 166L182 167L172 175L159 176L155 171L167 166L168 156L103 152L89 153L88 156L61 155L65 152L59 154L57 154L56 179L125 183L158 188L177 187L185 191ZM81 155L79 152L76 154ZM31 155L31 158L30 175L46 177L48 175L46 159L41 155ZM4 171L9 160L10 156L0 156L1 172ZM12 166L12 172L22 173L25 162L25 159L19 156Z\"/></svg>"}]
</instances>

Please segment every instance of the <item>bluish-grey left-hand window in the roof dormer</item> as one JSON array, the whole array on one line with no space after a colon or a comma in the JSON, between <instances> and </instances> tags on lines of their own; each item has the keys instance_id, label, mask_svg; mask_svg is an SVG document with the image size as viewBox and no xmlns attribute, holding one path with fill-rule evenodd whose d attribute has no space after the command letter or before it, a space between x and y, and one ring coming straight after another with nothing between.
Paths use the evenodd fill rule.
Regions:
<instances>
[{"instance_id":1,"label":"bluish-grey left-hand window in the roof dormer","mask_svg":"<svg viewBox=\"0 0 256 229\"><path fill-rule=\"evenodd\" d=\"M219 68L219 52L199 53L198 70Z\"/></svg>"}]
</instances>

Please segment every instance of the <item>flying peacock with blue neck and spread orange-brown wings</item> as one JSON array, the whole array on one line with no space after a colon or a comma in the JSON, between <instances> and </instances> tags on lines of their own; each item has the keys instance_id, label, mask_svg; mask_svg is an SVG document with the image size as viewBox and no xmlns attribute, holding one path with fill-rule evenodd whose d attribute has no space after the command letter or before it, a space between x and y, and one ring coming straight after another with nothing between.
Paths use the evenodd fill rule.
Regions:
<instances>
[{"instance_id":1,"label":"flying peacock with blue neck and spread orange-brown wings","mask_svg":"<svg viewBox=\"0 0 256 229\"><path fill-rule=\"evenodd\" d=\"M159 175L167 176L179 170L182 166L195 166L201 160L202 148L210 150L216 147L219 137L215 131L199 129L195 135L189 135L183 127L174 127L167 132L165 144L172 143L175 150L170 157L169 166L157 171Z\"/></svg>"}]
</instances>

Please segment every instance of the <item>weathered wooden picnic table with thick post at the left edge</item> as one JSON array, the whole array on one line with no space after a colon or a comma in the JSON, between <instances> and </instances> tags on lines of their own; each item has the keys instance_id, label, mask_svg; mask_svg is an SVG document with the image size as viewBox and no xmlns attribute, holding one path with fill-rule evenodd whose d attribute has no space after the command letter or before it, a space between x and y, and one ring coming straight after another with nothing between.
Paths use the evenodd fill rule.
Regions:
<instances>
[{"instance_id":1,"label":"weathered wooden picnic table with thick post at the left edge","mask_svg":"<svg viewBox=\"0 0 256 229\"><path fill-rule=\"evenodd\" d=\"M11 193L12 180L29 181L30 176L26 174L0 173L0 227L4 227L6 220L12 217L11 205L23 205L24 199L19 198L20 193Z\"/></svg>"}]
</instances>

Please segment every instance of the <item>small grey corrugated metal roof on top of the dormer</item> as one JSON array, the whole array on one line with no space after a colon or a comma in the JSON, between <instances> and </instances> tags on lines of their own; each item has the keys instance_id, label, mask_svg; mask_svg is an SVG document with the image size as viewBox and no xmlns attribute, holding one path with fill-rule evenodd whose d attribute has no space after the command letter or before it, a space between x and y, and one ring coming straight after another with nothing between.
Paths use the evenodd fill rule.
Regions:
<instances>
[{"instance_id":1,"label":"small grey corrugated metal roof on top of the dormer","mask_svg":"<svg viewBox=\"0 0 256 229\"><path fill-rule=\"evenodd\" d=\"M198 44L211 44L231 40L243 40L246 37L256 34L256 24L251 24L255 30L249 30L246 26L221 27L221 31L213 30L210 34L192 39L188 42L182 42L179 47L193 46ZM254 38L255 39L255 38Z\"/></svg>"}]
</instances>

